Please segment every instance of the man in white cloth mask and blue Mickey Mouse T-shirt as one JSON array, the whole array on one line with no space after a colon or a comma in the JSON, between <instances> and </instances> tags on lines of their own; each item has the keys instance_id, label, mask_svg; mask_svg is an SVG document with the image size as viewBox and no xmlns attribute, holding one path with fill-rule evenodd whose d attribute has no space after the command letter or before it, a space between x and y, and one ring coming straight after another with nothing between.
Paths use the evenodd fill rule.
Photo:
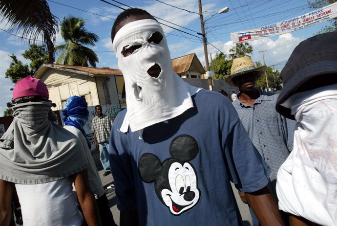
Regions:
<instances>
[{"instance_id":1,"label":"man in white cloth mask and blue Mickey Mouse T-shirt","mask_svg":"<svg viewBox=\"0 0 337 226\"><path fill-rule=\"evenodd\" d=\"M230 181L249 194L259 220L282 225L268 167L231 102L172 71L160 24L128 9L111 38L127 102L109 150L121 226L242 225Z\"/></svg>"}]
</instances>

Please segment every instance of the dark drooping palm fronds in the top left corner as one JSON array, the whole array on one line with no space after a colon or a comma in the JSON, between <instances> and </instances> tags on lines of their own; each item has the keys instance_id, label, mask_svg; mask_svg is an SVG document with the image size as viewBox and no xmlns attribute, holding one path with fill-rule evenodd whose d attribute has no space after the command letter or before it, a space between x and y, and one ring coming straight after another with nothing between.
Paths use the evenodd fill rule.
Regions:
<instances>
[{"instance_id":1,"label":"dark drooping palm fronds in the top left corner","mask_svg":"<svg viewBox=\"0 0 337 226\"><path fill-rule=\"evenodd\" d=\"M51 62L54 62L57 19L51 14L46 0L0 0L0 22L10 24L10 32L22 32L22 39L29 43L42 36Z\"/></svg>"}]
</instances>

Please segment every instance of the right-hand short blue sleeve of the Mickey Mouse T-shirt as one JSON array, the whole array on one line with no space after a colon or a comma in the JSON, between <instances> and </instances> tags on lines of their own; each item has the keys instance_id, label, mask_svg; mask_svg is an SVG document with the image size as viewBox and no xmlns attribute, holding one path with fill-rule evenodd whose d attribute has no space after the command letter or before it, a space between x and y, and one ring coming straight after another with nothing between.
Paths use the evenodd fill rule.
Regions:
<instances>
[{"instance_id":1,"label":"right-hand short blue sleeve of the Mickey Mouse T-shirt","mask_svg":"<svg viewBox=\"0 0 337 226\"><path fill-rule=\"evenodd\" d=\"M230 178L242 192L254 192L268 184L270 168L254 147L235 109L222 121L224 158ZM225 131L228 131L226 133Z\"/></svg>"}]
</instances>

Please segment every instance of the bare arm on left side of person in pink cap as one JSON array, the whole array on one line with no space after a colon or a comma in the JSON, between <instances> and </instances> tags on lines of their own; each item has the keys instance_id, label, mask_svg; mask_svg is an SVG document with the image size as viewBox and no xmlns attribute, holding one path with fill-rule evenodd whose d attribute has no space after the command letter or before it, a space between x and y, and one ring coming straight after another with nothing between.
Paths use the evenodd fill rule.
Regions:
<instances>
[{"instance_id":1,"label":"bare arm on left side of person in pink cap","mask_svg":"<svg viewBox=\"0 0 337 226\"><path fill-rule=\"evenodd\" d=\"M9 225L12 216L14 183L0 180L0 225Z\"/></svg>"}]
</instances>

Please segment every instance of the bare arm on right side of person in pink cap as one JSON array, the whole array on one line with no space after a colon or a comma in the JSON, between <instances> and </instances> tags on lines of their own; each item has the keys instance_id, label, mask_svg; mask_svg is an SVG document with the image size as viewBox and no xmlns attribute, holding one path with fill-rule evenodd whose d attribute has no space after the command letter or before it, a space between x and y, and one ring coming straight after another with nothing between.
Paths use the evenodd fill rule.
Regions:
<instances>
[{"instance_id":1,"label":"bare arm on right side of person in pink cap","mask_svg":"<svg viewBox=\"0 0 337 226\"><path fill-rule=\"evenodd\" d=\"M88 226L101 226L101 219L98 207L92 194L88 182L88 172L83 170L72 175L75 184L77 197L81 205L84 219Z\"/></svg>"}]
</instances>

